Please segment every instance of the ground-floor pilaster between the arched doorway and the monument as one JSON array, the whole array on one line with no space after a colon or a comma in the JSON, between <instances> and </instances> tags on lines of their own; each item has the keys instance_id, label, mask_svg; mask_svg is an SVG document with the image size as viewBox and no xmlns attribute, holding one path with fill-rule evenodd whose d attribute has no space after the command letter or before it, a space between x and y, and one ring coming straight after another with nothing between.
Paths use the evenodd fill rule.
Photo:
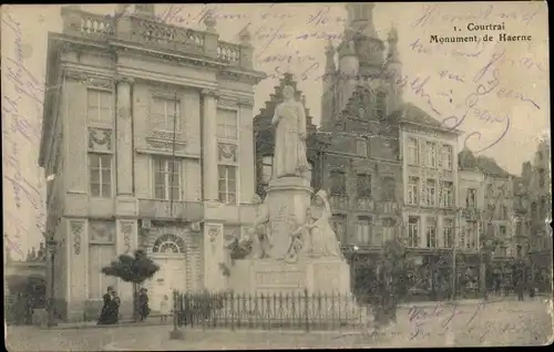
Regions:
<instances>
[{"instance_id":1,"label":"ground-floor pilaster between the arched doorway and the monument","mask_svg":"<svg viewBox=\"0 0 554 352\"><path fill-rule=\"evenodd\" d=\"M204 288L208 291L225 289L225 277L219 268L224 262L223 224L204 224Z\"/></svg>"}]
</instances>

